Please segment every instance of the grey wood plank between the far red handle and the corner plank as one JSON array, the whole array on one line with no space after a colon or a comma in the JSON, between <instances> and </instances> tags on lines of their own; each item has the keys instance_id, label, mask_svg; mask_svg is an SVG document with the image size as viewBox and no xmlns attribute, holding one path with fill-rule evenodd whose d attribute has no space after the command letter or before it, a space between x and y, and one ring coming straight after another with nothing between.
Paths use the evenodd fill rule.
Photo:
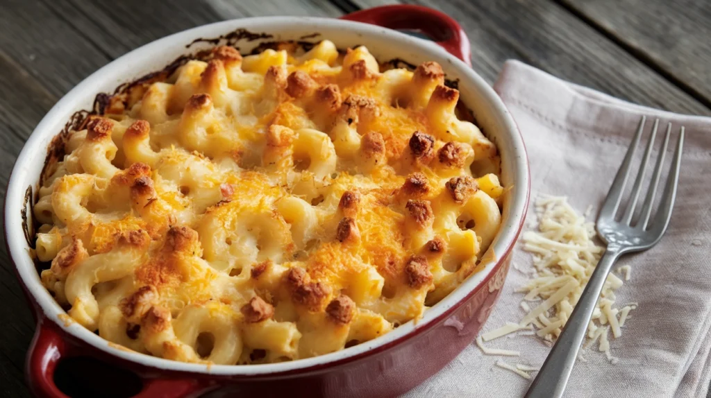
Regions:
<instances>
[{"instance_id":1,"label":"grey wood plank between the far red handle and the corner plank","mask_svg":"<svg viewBox=\"0 0 711 398\"><path fill-rule=\"evenodd\" d=\"M363 8L392 0L355 0ZM474 68L479 56L517 58L577 84L638 104L686 114L711 109L552 1L413 0L454 16L469 35ZM711 89L711 86L710 86Z\"/></svg>"}]
</instances>

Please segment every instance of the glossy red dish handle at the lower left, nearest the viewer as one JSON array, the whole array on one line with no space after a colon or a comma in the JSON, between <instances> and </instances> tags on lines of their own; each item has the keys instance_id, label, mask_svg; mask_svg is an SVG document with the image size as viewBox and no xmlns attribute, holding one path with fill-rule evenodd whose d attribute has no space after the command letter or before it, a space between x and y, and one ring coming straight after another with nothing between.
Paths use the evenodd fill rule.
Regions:
<instances>
[{"instance_id":1,"label":"glossy red dish handle at the lower left, nearest the viewer","mask_svg":"<svg viewBox=\"0 0 711 398\"><path fill-rule=\"evenodd\" d=\"M38 321L37 331L27 353L28 385L36 397L69 398L54 382L54 372L60 360L73 356L92 356L65 340L57 326L45 317ZM137 373L138 374L138 373ZM142 387L134 398L181 398L206 392L209 386L191 377L185 379L141 378ZM90 377L91 375L87 375ZM112 385L105 386L111 389Z\"/></svg>"}]
</instances>

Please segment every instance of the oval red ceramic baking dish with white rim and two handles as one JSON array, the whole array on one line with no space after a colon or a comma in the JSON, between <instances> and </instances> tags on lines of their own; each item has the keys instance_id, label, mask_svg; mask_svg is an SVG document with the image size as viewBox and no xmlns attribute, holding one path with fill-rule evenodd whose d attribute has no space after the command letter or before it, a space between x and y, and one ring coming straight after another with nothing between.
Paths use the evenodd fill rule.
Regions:
<instances>
[{"instance_id":1,"label":"oval red ceramic baking dish with white rim and two handles","mask_svg":"<svg viewBox=\"0 0 711 398\"><path fill-rule=\"evenodd\" d=\"M434 41L396 30L419 31ZM235 31L260 35L237 40L240 35L229 35ZM41 284L36 264L28 255L33 247L31 206L52 138L75 112L92 109L98 93L114 92L120 84L162 70L182 55L211 48L214 42L197 39L220 36L237 40L230 44L242 52L266 40L328 39L338 48L365 45L381 62L394 58L413 65L439 62L447 78L458 82L461 101L474 112L479 127L501 153L501 182L510 189L503 201L501 231L490 249L494 255L488 256L495 260L425 311L417 323L411 321L385 336L336 353L287 363L179 363L108 343L70 321ZM479 333L501 292L530 190L520 133L501 99L471 70L469 57L469 40L449 16L419 6L385 6L352 13L341 20L269 17L213 23L144 45L87 77L38 124L18 156L7 189L6 243L37 319L36 336L27 357L28 385L33 392L41 397L65 397L55 385L54 372L58 363L77 356L133 372L140 380L137 397L393 396L442 369ZM91 376L87 373L86 377ZM107 383L105 388L109 392L114 387Z\"/></svg>"}]
</instances>

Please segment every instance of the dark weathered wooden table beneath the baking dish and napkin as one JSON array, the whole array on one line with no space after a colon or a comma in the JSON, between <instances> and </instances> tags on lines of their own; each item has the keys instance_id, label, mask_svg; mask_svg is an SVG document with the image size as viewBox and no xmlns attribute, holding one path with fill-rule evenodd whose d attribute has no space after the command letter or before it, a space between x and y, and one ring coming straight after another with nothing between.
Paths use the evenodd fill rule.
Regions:
<instances>
[{"instance_id":1,"label":"dark weathered wooden table beneath the baking dish and napkin","mask_svg":"<svg viewBox=\"0 0 711 398\"><path fill-rule=\"evenodd\" d=\"M407 0L454 16L474 69L494 82L517 58L639 104L711 115L711 1ZM4 0L0 11L0 189L33 128L114 58L193 26L267 15L337 17L397 0ZM672 5L671 3L674 3ZM683 4L682 4L683 3ZM29 395L34 322L0 253L0 395ZM711 397L711 395L710 395Z\"/></svg>"}]
</instances>

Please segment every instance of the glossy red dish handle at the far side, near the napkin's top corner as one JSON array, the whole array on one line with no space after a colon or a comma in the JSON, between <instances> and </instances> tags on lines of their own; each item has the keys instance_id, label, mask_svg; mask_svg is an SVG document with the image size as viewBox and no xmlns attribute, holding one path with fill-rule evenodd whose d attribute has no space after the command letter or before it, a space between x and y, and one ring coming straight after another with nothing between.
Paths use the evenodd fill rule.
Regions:
<instances>
[{"instance_id":1,"label":"glossy red dish handle at the far side, near the napkin's top corner","mask_svg":"<svg viewBox=\"0 0 711 398\"><path fill-rule=\"evenodd\" d=\"M471 67L469 38L454 18L441 11L412 4L397 4L356 11L340 19L370 23L396 31L422 33Z\"/></svg>"}]
</instances>

